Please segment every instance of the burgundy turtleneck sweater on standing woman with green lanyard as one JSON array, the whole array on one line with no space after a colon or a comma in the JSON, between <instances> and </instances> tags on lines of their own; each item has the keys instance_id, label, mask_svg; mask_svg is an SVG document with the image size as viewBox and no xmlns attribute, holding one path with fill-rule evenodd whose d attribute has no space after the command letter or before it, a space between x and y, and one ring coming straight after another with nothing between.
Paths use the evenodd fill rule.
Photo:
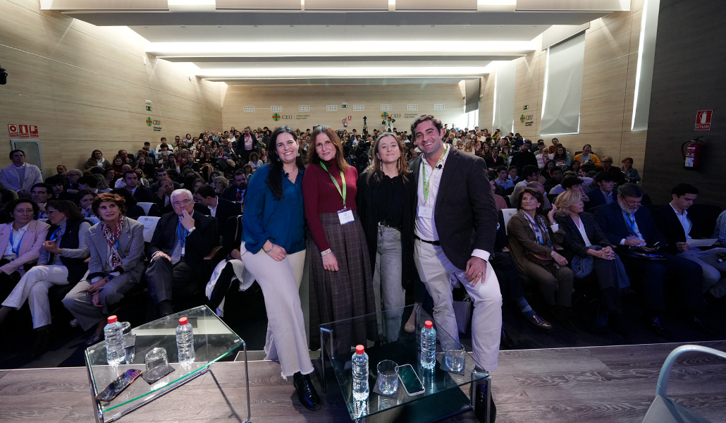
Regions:
<instances>
[{"instance_id":1,"label":"burgundy turtleneck sweater on standing woman with green lanyard","mask_svg":"<svg viewBox=\"0 0 726 423\"><path fill-rule=\"evenodd\" d=\"M343 189L343 181L340 179L340 169L335 160L325 163L327 171L338 181L340 189ZM343 172L346 176L346 206L350 210L356 210L356 183L358 171L353 166ZM330 248L322 230L319 213L337 213L343 209L343 198L340 197L338 189L335 188L330 175L317 164L308 165L303 174L303 202L305 204L305 218L310 227L310 233L320 251Z\"/></svg>"}]
</instances>

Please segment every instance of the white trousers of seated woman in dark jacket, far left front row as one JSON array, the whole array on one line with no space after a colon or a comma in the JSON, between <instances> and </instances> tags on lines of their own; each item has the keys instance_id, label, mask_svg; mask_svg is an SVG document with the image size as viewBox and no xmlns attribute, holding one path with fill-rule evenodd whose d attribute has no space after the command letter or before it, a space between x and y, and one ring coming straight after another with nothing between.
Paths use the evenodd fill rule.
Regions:
<instances>
[{"instance_id":1,"label":"white trousers of seated woman in dark jacket, far left front row","mask_svg":"<svg viewBox=\"0 0 726 423\"><path fill-rule=\"evenodd\" d=\"M65 266L35 266L25 272L2 305L18 309L28 300L33 329L50 324L50 300L48 289L53 285L68 285L68 268Z\"/></svg>"}]
</instances>

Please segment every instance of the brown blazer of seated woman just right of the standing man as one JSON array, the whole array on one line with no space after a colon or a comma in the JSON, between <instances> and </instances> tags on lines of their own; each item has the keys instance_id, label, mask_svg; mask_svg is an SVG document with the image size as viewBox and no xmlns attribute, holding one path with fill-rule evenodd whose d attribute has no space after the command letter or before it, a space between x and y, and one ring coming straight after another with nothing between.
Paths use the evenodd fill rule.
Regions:
<instances>
[{"instance_id":1,"label":"brown blazer of seated woman just right of the standing man","mask_svg":"<svg viewBox=\"0 0 726 423\"><path fill-rule=\"evenodd\" d=\"M547 221L547 218L544 220ZM550 241L556 244L562 243L565 239L565 231L561 227L557 232L552 232L550 226L547 226L547 235L550 237ZM537 237L534 236L529 221L521 213L510 218L509 224L507 224L507 239L512 260L521 274L528 274L525 270L528 266L542 266L529 260L525 255L526 251L537 252L547 257L552 254L552 248L537 243Z\"/></svg>"}]
</instances>

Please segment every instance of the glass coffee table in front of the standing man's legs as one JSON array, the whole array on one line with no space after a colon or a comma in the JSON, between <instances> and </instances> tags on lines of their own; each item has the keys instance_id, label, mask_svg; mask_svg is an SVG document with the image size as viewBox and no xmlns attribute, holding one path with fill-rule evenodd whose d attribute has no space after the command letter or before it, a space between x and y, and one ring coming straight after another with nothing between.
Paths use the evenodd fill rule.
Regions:
<instances>
[{"instance_id":1,"label":"glass coffee table in front of the standing man's legs","mask_svg":"<svg viewBox=\"0 0 726 423\"><path fill-rule=\"evenodd\" d=\"M413 332L404 330L404 323L411 313L416 313ZM449 334L436 327L436 364L433 369L420 366L420 332L424 321L431 320L421 308L409 305L404 308L365 316L334 321L320 325L323 390L325 386L325 356L333 367L351 419L356 422L432 422L473 409L476 385L491 395L491 378L486 372L475 369L473 357L464 353L460 371L451 371L444 365L444 349L457 345ZM364 345L368 354L370 396L367 401L353 398L351 356L355 345ZM377 382L378 363L393 360L399 366L411 364L425 392L407 395L399 381L393 396L374 392ZM487 398L486 403L489 403Z\"/></svg>"}]
</instances>

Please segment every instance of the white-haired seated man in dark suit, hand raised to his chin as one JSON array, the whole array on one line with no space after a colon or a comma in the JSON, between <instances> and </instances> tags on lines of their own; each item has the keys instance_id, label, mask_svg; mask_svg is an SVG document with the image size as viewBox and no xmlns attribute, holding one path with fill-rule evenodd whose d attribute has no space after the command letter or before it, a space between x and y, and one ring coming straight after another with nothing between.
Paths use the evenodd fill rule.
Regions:
<instances>
[{"instance_id":1,"label":"white-haired seated man in dark suit, hand raised to his chin","mask_svg":"<svg viewBox=\"0 0 726 423\"><path fill-rule=\"evenodd\" d=\"M160 316L174 313L174 296L191 296L204 286L204 257L219 245L216 222L195 213L191 192L172 192L171 205L174 213L161 216L147 247L146 279Z\"/></svg>"}]
</instances>

